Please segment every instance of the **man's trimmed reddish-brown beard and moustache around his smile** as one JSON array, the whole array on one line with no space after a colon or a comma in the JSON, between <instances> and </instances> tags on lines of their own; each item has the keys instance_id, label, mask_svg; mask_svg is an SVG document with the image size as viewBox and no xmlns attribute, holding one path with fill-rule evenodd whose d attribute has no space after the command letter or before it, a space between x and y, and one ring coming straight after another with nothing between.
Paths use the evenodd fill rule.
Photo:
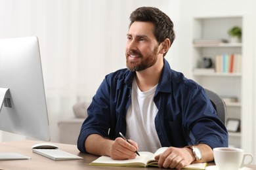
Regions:
<instances>
[{"instance_id":1,"label":"man's trimmed reddish-brown beard and moustache around his smile","mask_svg":"<svg viewBox=\"0 0 256 170\"><path fill-rule=\"evenodd\" d=\"M140 62L129 60L129 56L134 55L141 58ZM154 50L148 54L148 56L142 56L140 52L131 50L126 52L126 66L130 71L142 71L149 67L152 67L158 60L158 47L156 46Z\"/></svg>"}]
</instances>

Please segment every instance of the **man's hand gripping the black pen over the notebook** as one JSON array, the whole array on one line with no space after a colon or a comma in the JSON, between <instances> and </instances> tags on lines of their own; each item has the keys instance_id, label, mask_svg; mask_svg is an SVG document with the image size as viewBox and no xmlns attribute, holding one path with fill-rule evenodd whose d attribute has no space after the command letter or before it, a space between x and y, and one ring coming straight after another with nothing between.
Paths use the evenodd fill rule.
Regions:
<instances>
[{"instance_id":1,"label":"man's hand gripping the black pen over the notebook","mask_svg":"<svg viewBox=\"0 0 256 170\"><path fill-rule=\"evenodd\" d=\"M131 143L131 144L130 144ZM117 137L110 147L110 157L114 160L127 160L136 158L135 151L138 149L138 144L129 139L129 143L121 137Z\"/></svg>"}]
</instances>

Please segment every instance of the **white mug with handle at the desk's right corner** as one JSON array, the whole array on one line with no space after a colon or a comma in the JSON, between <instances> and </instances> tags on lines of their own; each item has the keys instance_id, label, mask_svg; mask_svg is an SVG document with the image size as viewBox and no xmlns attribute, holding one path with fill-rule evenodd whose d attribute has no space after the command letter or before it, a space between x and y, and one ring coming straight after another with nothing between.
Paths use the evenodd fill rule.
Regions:
<instances>
[{"instance_id":1,"label":"white mug with handle at the desk's right corner","mask_svg":"<svg viewBox=\"0 0 256 170\"><path fill-rule=\"evenodd\" d=\"M213 148L213 156L219 170L238 170L253 161L253 155L240 148Z\"/></svg>"}]
</instances>

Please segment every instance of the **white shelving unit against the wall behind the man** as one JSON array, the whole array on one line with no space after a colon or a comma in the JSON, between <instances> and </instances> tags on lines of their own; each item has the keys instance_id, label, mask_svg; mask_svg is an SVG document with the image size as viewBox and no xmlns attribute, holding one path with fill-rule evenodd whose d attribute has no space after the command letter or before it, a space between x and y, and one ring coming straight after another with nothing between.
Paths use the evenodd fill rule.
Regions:
<instances>
[{"instance_id":1,"label":"white shelving unit against the wall behind the man","mask_svg":"<svg viewBox=\"0 0 256 170\"><path fill-rule=\"evenodd\" d=\"M238 25L242 27L242 42L230 43L193 43L192 44L192 76L204 88L212 90L221 96L234 96L237 102L226 103L227 120L240 120L240 131L229 133L229 145L250 150L253 141L248 135L252 127L253 103L253 42L250 39L251 18L245 16L217 16L193 18L194 40L226 40L229 41L228 29ZM215 68L215 56L219 54L242 54L241 71L237 73L209 73L194 72L194 69L203 68L203 58L211 58ZM249 101L249 102L248 102ZM246 123L245 123L246 122ZM251 126L251 127L250 127Z\"/></svg>"}]
</instances>

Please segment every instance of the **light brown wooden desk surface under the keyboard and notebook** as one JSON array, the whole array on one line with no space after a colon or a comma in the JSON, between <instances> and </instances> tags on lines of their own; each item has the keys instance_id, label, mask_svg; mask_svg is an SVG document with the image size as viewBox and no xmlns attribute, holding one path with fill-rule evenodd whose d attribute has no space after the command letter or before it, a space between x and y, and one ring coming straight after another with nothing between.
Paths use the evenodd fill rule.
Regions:
<instances>
[{"instance_id":1,"label":"light brown wooden desk surface under the keyboard and notebook","mask_svg":"<svg viewBox=\"0 0 256 170\"><path fill-rule=\"evenodd\" d=\"M77 147L72 144L60 144L54 143L60 150L70 152L83 157L83 160L65 160L65 161L54 161L49 158L45 158L39 154L32 152L33 144L44 143L41 141L12 141L0 143L0 152L17 152L30 156L31 160L9 160L0 161L0 169L131 169L131 167L102 167L102 166L91 166L89 163L96 160L98 156L91 154L83 154L77 150ZM251 169L256 169L256 165L251 165ZM158 167L148 167L142 169L158 169Z\"/></svg>"}]
</instances>

